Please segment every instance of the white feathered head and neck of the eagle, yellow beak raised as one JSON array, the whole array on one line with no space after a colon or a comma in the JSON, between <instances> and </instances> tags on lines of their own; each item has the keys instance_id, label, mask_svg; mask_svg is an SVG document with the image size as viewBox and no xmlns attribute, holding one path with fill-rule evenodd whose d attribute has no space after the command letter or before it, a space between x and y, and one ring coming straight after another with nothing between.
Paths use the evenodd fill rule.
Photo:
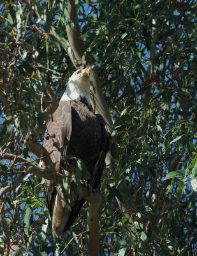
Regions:
<instances>
[{"instance_id":1,"label":"white feathered head and neck of the eagle, yellow beak raised","mask_svg":"<svg viewBox=\"0 0 197 256\"><path fill-rule=\"evenodd\" d=\"M91 106L89 74L89 68L75 71L68 81L66 91L61 100L77 100L79 97L84 97L87 100L87 104Z\"/></svg>"}]
</instances>

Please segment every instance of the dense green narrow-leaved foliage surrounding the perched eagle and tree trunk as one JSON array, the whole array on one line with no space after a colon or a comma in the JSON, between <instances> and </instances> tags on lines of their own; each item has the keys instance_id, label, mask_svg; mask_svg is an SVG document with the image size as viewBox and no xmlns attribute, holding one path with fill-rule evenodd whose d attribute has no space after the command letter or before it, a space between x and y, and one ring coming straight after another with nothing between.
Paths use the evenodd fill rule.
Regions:
<instances>
[{"instance_id":1,"label":"dense green narrow-leaved foliage surrounding the perched eagle and tree trunk","mask_svg":"<svg viewBox=\"0 0 197 256\"><path fill-rule=\"evenodd\" d=\"M22 140L39 124L36 141L43 143L47 86L60 98L75 68L58 41L68 40L66 1L31 0L40 18L24 2L0 2L0 146L1 154L38 164ZM96 61L113 119L113 161L100 188L101 255L193 256L197 253L196 3L75 2L81 38ZM50 33L52 25L55 35ZM46 97L42 108L41 93ZM16 163L1 161L0 189L26 168ZM73 187L82 169L78 163ZM75 200L76 194L72 196ZM40 177L29 175L7 193L4 210L1 218L8 224L11 244L18 246L15 255L84 252L85 205L73 227L55 239ZM3 245L2 228L0 236Z\"/></svg>"}]
</instances>

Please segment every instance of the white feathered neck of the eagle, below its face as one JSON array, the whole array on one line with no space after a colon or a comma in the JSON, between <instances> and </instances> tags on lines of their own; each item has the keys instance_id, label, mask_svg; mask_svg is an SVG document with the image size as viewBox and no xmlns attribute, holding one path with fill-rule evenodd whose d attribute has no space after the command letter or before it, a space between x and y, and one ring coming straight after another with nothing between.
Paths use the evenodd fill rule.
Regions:
<instances>
[{"instance_id":1,"label":"white feathered neck of the eagle, below its face","mask_svg":"<svg viewBox=\"0 0 197 256\"><path fill-rule=\"evenodd\" d=\"M61 100L78 100L84 98L87 101L87 104L91 106L90 102L90 87L77 87L73 84L68 84L66 91L64 92Z\"/></svg>"}]
</instances>

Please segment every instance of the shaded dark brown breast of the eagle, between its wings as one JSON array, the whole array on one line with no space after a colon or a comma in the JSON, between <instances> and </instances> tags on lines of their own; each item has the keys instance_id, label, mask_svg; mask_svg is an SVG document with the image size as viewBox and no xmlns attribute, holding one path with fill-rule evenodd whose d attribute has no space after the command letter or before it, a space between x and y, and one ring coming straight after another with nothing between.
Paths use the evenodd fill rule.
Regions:
<instances>
[{"instance_id":1,"label":"shaded dark brown breast of the eagle, between its wings","mask_svg":"<svg viewBox=\"0 0 197 256\"><path fill-rule=\"evenodd\" d=\"M101 147L101 125L84 100L71 102L72 133L68 154L84 161L87 170L92 173L94 163Z\"/></svg>"}]
</instances>

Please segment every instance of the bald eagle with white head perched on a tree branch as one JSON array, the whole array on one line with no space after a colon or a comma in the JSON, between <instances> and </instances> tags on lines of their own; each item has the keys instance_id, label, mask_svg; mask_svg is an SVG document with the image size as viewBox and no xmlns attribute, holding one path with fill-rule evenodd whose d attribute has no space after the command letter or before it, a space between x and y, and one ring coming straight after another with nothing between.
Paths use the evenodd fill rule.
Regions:
<instances>
[{"instance_id":1,"label":"bald eagle with white head perched on a tree branch","mask_svg":"<svg viewBox=\"0 0 197 256\"><path fill-rule=\"evenodd\" d=\"M50 153L56 172L66 169L67 155L84 161L91 177L88 182L96 189L105 166L109 139L103 117L92 112L89 73L89 68L79 69L70 77L59 107L48 122L43 146ZM77 218L85 200L76 200L68 211L68 198L64 198L61 184L45 180L45 185L52 232L61 237Z\"/></svg>"}]
</instances>

